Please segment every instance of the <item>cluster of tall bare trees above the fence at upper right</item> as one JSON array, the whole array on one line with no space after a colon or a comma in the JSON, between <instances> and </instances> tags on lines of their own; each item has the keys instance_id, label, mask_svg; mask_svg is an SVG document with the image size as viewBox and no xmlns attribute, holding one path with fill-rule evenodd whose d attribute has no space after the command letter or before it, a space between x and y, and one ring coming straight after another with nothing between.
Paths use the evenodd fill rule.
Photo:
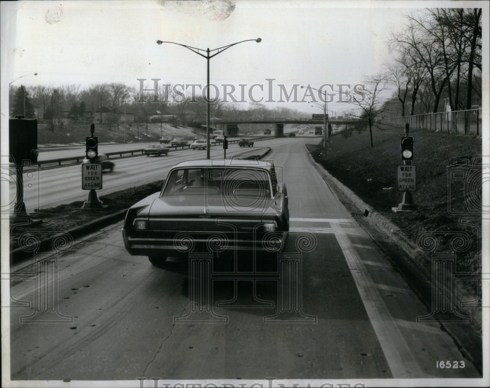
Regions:
<instances>
[{"instance_id":1,"label":"cluster of tall bare trees above the fence at upper right","mask_svg":"<svg viewBox=\"0 0 490 388\"><path fill-rule=\"evenodd\" d=\"M402 31L388 39L393 61L387 65L401 115L436 113L441 102L444 111L446 104L453 111L481 102L482 9L436 8L404 16Z\"/></svg>"}]
</instances>

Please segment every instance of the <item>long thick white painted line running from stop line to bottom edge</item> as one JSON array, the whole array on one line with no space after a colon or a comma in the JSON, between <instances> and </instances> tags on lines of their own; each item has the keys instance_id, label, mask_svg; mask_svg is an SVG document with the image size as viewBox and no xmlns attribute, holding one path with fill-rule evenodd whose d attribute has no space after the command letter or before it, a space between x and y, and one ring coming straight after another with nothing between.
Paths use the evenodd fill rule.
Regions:
<instances>
[{"instance_id":1,"label":"long thick white painted line running from stop line to bottom edge","mask_svg":"<svg viewBox=\"0 0 490 388\"><path fill-rule=\"evenodd\" d=\"M381 349L385 354L386 361L390 366L393 378L432 377L423 373L418 365L347 234L335 223L332 224L332 228L348 266L359 269L359 271L351 271L352 278L363 301L369 321L378 337Z\"/></svg>"}]
</instances>

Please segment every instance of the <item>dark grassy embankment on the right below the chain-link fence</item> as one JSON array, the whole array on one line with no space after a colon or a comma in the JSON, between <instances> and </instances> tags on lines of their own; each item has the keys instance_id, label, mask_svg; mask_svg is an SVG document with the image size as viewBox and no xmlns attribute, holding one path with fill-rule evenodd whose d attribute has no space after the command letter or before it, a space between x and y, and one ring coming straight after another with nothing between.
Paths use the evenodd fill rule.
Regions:
<instances>
[{"instance_id":1,"label":"dark grassy embankment on the right below the chain-link fence","mask_svg":"<svg viewBox=\"0 0 490 388\"><path fill-rule=\"evenodd\" d=\"M412 164L417 166L417 191L413 198L418 210L414 212L392 211L403 196L396 186L396 166L403 164L400 137L404 136L404 129L392 126L374 129L373 148L365 130L332 136L326 148L321 142L309 148L317 162L390 219L414 243L422 233L429 232L439 241L438 252L450 252L449 240L454 233L468 233L471 243L464 252L458 252L456 271L481 272L481 166L471 167L471 163L482 155L482 139L423 129L413 129L410 135L414 137ZM470 165L450 166L456 158L468 160ZM463 177L459 174L454 179L451 174L454 169L476 175L466 174L466 178L459 179ZM470 182L467 187L466 181ZM468 225L462 223L465 219L471 219ZM477 291L476 282L466 286Z\"/></svg>"}]
</instances>

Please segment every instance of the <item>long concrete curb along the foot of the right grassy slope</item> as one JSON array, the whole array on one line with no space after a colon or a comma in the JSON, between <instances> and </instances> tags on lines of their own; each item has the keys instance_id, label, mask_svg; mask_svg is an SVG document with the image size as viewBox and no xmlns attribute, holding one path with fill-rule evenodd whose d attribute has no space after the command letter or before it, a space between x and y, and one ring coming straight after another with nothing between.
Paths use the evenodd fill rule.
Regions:
<instances>
[{"instance_id":1,"label":"long concrete curb along the foot of the right grassy slope","mask_svg":"<svg viewBox=\"0 0 490 388\"><path fill-rule=\"evenodd\" d=\"M427 267L431 267L432 263L428 261L429 259L424 254L424 252L419 248L417 248L416 246L414 246L413 242L410 241L408 238L406 238L403 232L397 226L395 226L390 220L388 220L382 214L374 210L374 208L366 204L362 199L360 199L351 189L345 186L341 181L334 178L327 170L323 168L321 164L315 161L315 159L309 152L306 145L304 147L305 147L306 154L308 155L308 158L310 159L313 166L317 169L317 171L319 172L319 174L321 175L325 183L327 185L333 185L335 186L336 189L341 191L355 207L357 207L362 213L364 213L364 216L366 217L365 220L371 226L376 228L378 232L382 233L385 237L390 239L394 243L394 245L397 246L397 248L401 249L405 253L406 257L403 256L400 257L399 260L397 260L394 263L394 265L396 267L399 267L399 269L401 270L400 272L402 272L402 275L409 275L410 277L413 278L413 280L415 280L417 284L417 289L414 289L414 291L418 294L418 296L421 298L424 304L426 304L426 306L429 307L430 303L428 303L427 300L431 298L432 291L433 291L433 284L432 284L432 273L430 270L427 269ZM427 264L429 265L427 266ZM456 289L454 292L455 293L461 292L462 294L466 294L465 292L459 289ZM455 299L454 294L451 294L450 297ZM467 315L471 316L468 310L465 309L462 310L463 312L467 313ZM445 331L449 333L449 335L457 344L462 354L468 360L473 362L473 364L477 367L477 369L481 373L482 364L477 359L472 357L472 352L466 348L464 342L466 342L469 345L469 348L475 349L478 348L477 346L475 346L475 343L479 342L481 344L482 337L479 336L475 337L474 333L472 332L468 333L468 331L466 331L466 328L462 328L460 330L457 327L452 327L450 325L445 324L444 321L441 321L440 324L441 326L444 327ZM482 327L481 321L477 322L476 326L475 323L471 321L470 327L478 328L478 324L480 324L480 327ZM465 338L466 341L463 341L463 338Z\"/></svg>"}]
</instances>

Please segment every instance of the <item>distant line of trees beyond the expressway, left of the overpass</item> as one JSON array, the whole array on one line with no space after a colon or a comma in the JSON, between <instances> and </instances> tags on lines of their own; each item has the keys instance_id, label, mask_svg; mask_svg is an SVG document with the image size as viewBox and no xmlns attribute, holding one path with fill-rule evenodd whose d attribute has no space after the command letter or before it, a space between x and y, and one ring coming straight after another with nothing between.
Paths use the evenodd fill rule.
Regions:
<instances>
[{"instance_id":1,"label":"distant line of trees beyond the expressway, left of the overpass","mask_svg":"<svg viewBox=\"0 0 490 388\"><path fill-rule=\"evenodd\" d=\"M140 91L136 87L129 87L123 83L101 83L81 89L79 84L68 84L59 87L52 86L10 86L9 101L10 114L25 115L26 118L36 116L34 107L38 108L38 119L58 119L68 117L73 120L88 119L97 120L97 112L100 107L118 108L120 111L134 113L135 120L142 123L151 115L174 114L177 121L184 125L189 116L206 117L207 103L202 96L169 95L165 85L158 89L158 103L152 102L153 92L145 93L146 102L138 102L141 99ZM171 92L172 93L172 92ZM172 101L172 103L169 103ZM68 113L67 113L68 112ZM223 103L213 101L210 103L211 117L221 119L236 118L266 118L266 117L290 117L306 116L306 113L298 112L288 107L268 108L261 103ZM113 121L118 121L118 115L114 115Z\"/></svg>"}]
</instances>

